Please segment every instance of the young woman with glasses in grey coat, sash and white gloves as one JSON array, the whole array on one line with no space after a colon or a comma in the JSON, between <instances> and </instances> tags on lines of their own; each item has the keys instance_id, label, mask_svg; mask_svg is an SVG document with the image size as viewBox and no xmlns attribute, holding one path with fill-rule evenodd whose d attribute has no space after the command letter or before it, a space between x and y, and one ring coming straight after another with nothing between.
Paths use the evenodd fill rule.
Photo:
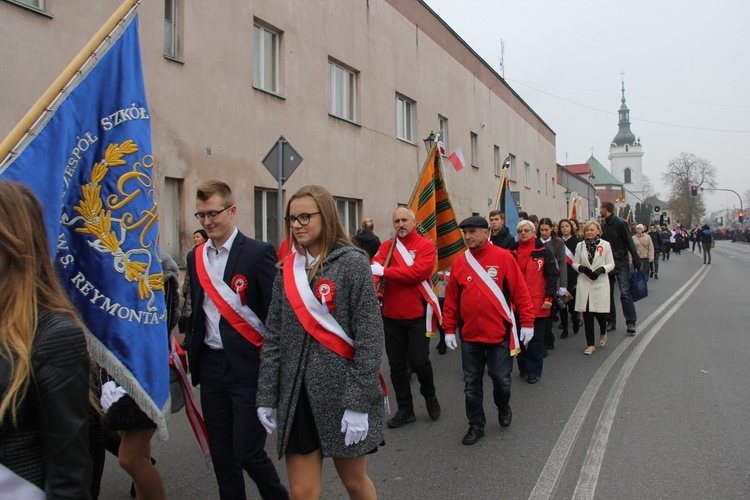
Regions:
<instances>
[{"instance_id":1,"label":"young woman with glasses in grey coat, sash and white gloves","mask_svg":"<svg viewBox=\"0 0 750 500\"><path fill-rule=\"evenodd\" d=\"M378 373L383 324L369 262L349 241L325 188L297 191L285 219L296 251L280 264L274 282L258 378L258 418L270 433L276 409L277 447L279 457L286 456L293 498L320 496L324 457L333 458L350 497L376 498L366 456L383 439ZM295 286L299 273L304 274ZM314 303L303 303L305 296ZM310 323L313 316L306 314L319 310L340 325L348 344L313 328L323 323Z\"/></svg>"}]
</instances>

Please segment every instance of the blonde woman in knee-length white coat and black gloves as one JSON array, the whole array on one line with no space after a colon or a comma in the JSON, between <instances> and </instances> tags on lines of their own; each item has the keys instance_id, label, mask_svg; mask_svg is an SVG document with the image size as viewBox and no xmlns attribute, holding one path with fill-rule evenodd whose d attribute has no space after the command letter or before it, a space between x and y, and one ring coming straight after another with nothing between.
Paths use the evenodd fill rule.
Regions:
<instances>
[{"instance_id":1,"label":"blonde woman in knee-length white coat and black gloves","mask_svg":"<svg viewBox=\"0 0 750 500\"><path fill-rule=\"evenodd\" d=\"M583 313L583 326L588 347L584 354L593 354L594 318L599 323L599 345L607 344L607 314L609 314L609 280L606 274L615 268L612 248L601 239L602 228L596 221L583 225L586 239L576 247L573 269L579 274L576 311ZM602 277L603 276L603 277Z\"/></svg>"}]
</instances>

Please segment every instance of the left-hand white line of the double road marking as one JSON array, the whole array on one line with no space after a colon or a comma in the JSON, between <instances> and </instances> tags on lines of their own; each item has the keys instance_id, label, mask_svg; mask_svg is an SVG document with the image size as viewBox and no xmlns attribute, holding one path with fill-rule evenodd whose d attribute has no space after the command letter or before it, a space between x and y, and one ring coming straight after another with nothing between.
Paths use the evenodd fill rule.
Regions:
<instances>
[{"instance_id":1,"label":"left-hand white line of the double road marking","mask_svg":"<svg viewBox=\"0 0 750 500\"><path fill-rule=\"evenodd\" d=\"M677 292L675 292L674 295L672 295L672 298L665 301L656 311L651 313L651 315L649 315L639 327L645 329L655 318L667 309L672 302L677 300L676 298L679 297L680 294L687 289L704 270L707 272L708 268L701 267L682 287L680 287L679 290L677 290ZM568 422L560 433L560 437L557 439L555 447L552 449L552 452L550 452L547 463L544 465L544 468L534 485L534 489L529 495L530 500L545 500L552 497L552 494L557 487L557 483L560 480L560 474L565 468L565 464L570 456L570 451L573 449L573 445L578 439L581 426L586 419L586 415L591 408L591 404L596 397L599 388L604 382L609 370L636 338L638 337L627 337L622 343L620 343L617 349L607 357L604 364L599 367L597 372L591 378L591 382L586 386L586 390L583 391L578 404L573 409L573 413L570 415L570 418L568 418Z\"/></svg>"}]
</instances>

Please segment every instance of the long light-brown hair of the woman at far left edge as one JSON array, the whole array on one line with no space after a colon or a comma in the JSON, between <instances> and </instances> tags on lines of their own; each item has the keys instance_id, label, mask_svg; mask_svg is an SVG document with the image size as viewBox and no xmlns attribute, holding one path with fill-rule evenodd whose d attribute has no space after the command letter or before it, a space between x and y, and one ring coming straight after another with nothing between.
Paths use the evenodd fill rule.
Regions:
<instances>
[{"instance_id":1,"label":"long light-brown hair of the woman at far left edge","mask_svg":"<svg viewBox=\"0 0 750 500\"><path fill-rule=\"evenodd\" d=\"M0 402L0 422L18 408L31 382L31 348L40 309L78 322L55 275L42 207L26 186L0 180L0 253L8 270L0 286L0 347L10 363L10 381Z\"/></svg>"}]
</instances>

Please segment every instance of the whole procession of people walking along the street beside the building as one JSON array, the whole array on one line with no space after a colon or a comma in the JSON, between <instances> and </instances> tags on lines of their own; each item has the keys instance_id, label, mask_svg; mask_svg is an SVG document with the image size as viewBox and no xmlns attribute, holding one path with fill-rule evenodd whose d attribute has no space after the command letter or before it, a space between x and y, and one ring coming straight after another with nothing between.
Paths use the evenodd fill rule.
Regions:
<instances>
[{"instance_id":1,"label":"whole procession of people walking along the street beside the building","mask_svg":"<svg viewBox=\"0 0 750 500\"><path fill-rule=\"evenodd\" d=\"M498 423L510 426L513 358L520 377L536 384L556 338L570 339L583 325L583 353L605 347L618 328L615 286L621 325L635 335L631 273L658 279L660 261L691 243L710 264L714 239L708 226L630 228L610 202L599 221L583 223L521 212L515 238L493 211L459 224L467 250L438 297L435 245L408 208L394 210L392 239L381 243L372 219L350 238L333 196L305 186L286 203L286 238L275 249L238 230L226 183L201 184L195 203L201 229L181 294L176 266L164 260L165 290L183 298L181 313L179 298L168 300L168 326L182 315L219 495L231 499L245 498L245 473L262 498L318 498L325 458L350 497L376 498L367 457L384 443L384 427L416 422L412 375L427 416L440 418L430 362L438 333L441 354L461 355L469 425L462 442L485 434L485 369ZM106 374L92 375L81 319L49 260L39 203L27 188L0 181L0 216L7 222L0 228L0 487L16 498L96 498L104 445L95 446L95 436L108 432L106 448L133 478L132 493L165 498L150 454L156 425ZM390 418L383 350L396 403ZM265 451L274 432L289 489Z\"/></svg>"}]
</instances>

